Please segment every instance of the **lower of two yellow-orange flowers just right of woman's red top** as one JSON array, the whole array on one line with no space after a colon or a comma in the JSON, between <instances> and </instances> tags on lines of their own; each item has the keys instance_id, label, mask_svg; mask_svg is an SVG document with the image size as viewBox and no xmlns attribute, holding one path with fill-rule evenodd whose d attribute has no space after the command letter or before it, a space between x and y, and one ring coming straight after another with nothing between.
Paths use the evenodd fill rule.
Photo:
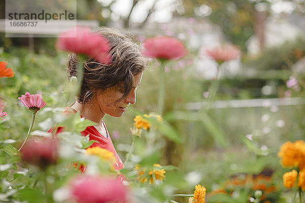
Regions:
<instances>
[{"instance_id":1,"label":"lower of two yellow-orange flowers just right of woman's red top","mask_svg":"<svg viewBox=\"0 0 305 203\"><path fill-rule=\"evenodd\" d=\"M135 172L138 174L138 180L141 183L145 183L149 179L149 184L154 184L154 181L160 180L163 181L165 178L166 171L161 169L161 165L159 163L155 163L154 167L160 167L160 170L150 169L147 174L145 174L146 168L141 167L140 165L136 164L134 167Z\"/></svg>"}]
</instances>

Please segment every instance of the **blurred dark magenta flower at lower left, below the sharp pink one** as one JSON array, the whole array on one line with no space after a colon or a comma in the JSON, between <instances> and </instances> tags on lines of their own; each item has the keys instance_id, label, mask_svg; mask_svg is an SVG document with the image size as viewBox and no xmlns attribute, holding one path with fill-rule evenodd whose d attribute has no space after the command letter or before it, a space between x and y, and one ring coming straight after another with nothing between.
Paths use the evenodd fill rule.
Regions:
<instances>
[{"instance_id":1,"label":"blurred dark magenta flower at lower left, below the sharp pink one","mask_svg":"<svg viewBox=\"0 0 305 203\"><path fill-rule=\"evenodd\" d=\"M54 138L32 137L20 150L23 161L45 168L58 159L58 140Z\"/></svg>"}]
</instances>

